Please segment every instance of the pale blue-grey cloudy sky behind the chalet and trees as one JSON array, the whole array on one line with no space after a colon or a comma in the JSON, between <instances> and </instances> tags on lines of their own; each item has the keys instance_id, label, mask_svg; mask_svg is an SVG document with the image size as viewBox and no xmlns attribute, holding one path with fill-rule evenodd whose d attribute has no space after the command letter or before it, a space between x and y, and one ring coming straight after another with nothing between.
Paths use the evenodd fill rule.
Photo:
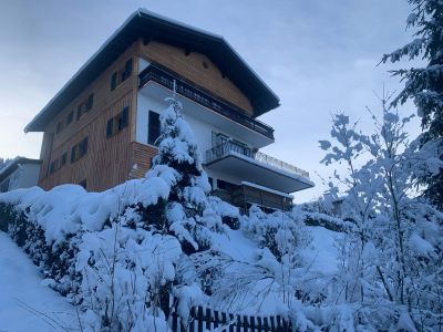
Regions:
<instances>
[{"instance_id":1,"label":"pale blue-grey cloudy sky behind the chalet and trees","mask_svg":"<svg viewBox=\"0 0 443 332\"><path fill-rule=\"evenodd\" d=\"M402 86L387 73L391 64L377 64L411 39L406 0L2 0L0 157L39 157L42 135L23 127L137 8L224 35L277 93L281 106L260 117L276 136L264 152L310 172L317 186L297 201L324 189L316 172L332 173L318 147L331 114L343 111L369 128L365 106L380 108L373 91Z\"/></svg>"}]
</instances>

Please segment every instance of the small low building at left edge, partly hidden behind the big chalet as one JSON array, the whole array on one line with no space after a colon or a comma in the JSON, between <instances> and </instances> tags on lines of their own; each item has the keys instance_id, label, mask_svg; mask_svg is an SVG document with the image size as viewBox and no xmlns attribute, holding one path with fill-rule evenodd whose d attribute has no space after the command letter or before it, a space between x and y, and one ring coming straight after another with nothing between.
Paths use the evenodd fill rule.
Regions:
<instances>
[{"instance_id":1,"label":"small low building at left edge, partly hidden behind the big chalet","mask_svg":"<svg viewBox=\"0 0 443 332\"><path fill-rule=\"evenodd\" d=\"M0 169L0 193L37 186L41 160L17 157Z\"/></svg>"}]
</instances>

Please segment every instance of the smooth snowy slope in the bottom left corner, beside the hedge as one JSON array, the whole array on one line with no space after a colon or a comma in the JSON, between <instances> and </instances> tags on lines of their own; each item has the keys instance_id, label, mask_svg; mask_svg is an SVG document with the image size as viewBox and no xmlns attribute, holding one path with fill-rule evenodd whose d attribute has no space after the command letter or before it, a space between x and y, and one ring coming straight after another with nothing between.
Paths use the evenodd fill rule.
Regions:
<instances>
[{"instance_id":1,"label":"smooth snowy slope in the bottom left corner, beside the hedge","mask_svg":"<svg viewBox=\"0 0 443 332\"><path fill-rule=\"evenodd\" d=\"M42 284L42 276L0 231L0 331L80 331L75 308Z\"/></svg>"}]
</instances>

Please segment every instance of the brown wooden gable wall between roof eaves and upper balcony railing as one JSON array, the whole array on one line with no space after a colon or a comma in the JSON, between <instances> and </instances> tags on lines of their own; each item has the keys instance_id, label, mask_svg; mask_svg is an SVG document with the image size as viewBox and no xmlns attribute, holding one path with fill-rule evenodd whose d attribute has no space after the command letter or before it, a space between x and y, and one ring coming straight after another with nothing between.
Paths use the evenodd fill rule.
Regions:
<instances>
[{"instance_id":1,"label":"brown wooden gable wall between roof eaves and upper balcony railing","mask_svg":"<svg viewBox=\"0 0 443 332\"><path fill-rule=\"evenodd\" d=\"M248 115L254 115L250 101L228 77L223 76L219 69L206 55L186 52L183 49L156 41L151 41L146 45L140 41L140 54L237 105Z\"/></svg>"}]
</instances>

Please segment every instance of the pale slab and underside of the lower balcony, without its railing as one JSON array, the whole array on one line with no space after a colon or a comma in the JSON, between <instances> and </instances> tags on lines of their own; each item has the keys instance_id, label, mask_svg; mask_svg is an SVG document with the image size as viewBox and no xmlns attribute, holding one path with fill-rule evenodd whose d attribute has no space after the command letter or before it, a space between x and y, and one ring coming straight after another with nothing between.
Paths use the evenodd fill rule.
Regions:
<instances>
[{"instance_id":1,"label":"pale slab and underside of the lower balcony, without its railing","mask_svg":"<svg viewBox=\"0 0 443 332\"><path fill-rule=\"evenodd\" d=\"M281 193L295 193L313 187L313 183L298 174L292 174L230 152L226 156L207 163L209 170L235 174L241 181L254 183Z\"/></svg>"}]
</instances>

